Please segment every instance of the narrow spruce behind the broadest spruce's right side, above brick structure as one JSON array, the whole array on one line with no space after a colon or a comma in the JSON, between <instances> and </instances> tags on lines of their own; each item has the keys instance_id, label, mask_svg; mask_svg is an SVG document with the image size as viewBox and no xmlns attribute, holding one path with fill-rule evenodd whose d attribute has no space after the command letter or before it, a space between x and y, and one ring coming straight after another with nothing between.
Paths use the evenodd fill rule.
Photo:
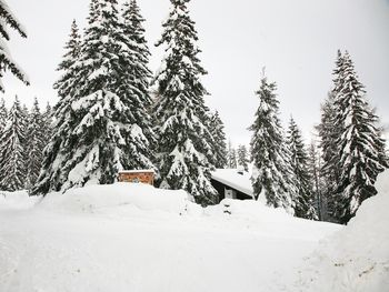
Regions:
<instances>
[{"instance_id":1,"label":"narrow spruce behind the broadest spruce's right side, above brick structure","mask_svg":"<svg viewBox=\"0 0 389 292\"><path fill-rule=\"evenodd\" d=\"M149 87L152 73L149 66L150 51L144 38L144 19L136 0L124 3L119 40L126 44L119 52L122 66L117 94L128 109L128 132L122 165L126 169L154 169L156 134L151 124L151 98Z\"/></svg>"}]
</instances>

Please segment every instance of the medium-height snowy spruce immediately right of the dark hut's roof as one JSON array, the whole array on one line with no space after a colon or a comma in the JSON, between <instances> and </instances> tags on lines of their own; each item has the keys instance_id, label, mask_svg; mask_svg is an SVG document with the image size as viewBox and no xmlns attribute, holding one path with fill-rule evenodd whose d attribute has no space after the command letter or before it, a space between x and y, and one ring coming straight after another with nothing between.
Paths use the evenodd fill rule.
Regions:
<instances>
[{"instance_id":1,"label":"medium-height snowy spruce immediately right of the dark hut's roof","mask_svg":"<svg viewBox=\"0 0 389 292\"><path fill-rule=\"evenodd\" d=\"M276 89L276 83L269 83L263 77L260 89L256 92L260 102L256 120L249 128L253 132L250 142L253 162L251 181L257 200L263 195L268 205L281 207L293 213L297 190L290 153L279 120Z\"/></svg>"}]
</instances>

